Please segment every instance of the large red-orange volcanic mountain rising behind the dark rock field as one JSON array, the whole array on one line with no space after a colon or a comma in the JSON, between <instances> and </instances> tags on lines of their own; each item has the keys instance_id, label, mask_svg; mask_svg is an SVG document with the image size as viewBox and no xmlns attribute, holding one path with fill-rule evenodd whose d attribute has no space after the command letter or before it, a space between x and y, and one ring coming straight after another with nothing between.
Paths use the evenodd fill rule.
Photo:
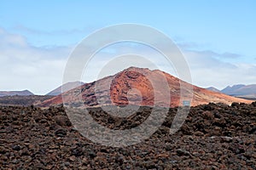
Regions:
<instances>
[{"instance_id":1,"label":"large red-orange volcanic mountain rising behind the dark rock field","mask_svg":"<svg viewBox=\"0 0 256 170\"><path fill-rule=\"evenodd\" d=\"M181 85L183 88L181 88ZM182 90L182 91L181 91ZM45 100L39 106L58 105L64 102L74 105L159 105L175 107L183 105L183 99L193 96L191 105L232 102L252 103L250 100L238 99L229 95L198 88L179 80L164 71L130 67L114 76L102 78L96 82L85 83L63 94Z\"/></svg>"}]
</instances>

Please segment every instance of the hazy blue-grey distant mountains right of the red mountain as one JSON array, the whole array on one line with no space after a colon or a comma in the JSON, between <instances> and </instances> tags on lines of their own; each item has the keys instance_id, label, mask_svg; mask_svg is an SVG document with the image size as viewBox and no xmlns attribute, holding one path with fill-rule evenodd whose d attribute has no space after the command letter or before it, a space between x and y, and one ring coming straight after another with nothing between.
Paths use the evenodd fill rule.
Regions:
<instances>
[{"instance_id":1,"label":"hazy blue-grey distant mountains right of the red mountain","mask_svg":"<svg viewBox=\"0 0 256 170\"><path fill-rule=\"evenodd\" d=\"M207 89L212 90L214 92L228 94L231 96L236 96L244 99L256 99L256 84L236 84L233 86L228 86L222 90L218 90L217 88L212 87Z\"/></svg>"}]
</instances>

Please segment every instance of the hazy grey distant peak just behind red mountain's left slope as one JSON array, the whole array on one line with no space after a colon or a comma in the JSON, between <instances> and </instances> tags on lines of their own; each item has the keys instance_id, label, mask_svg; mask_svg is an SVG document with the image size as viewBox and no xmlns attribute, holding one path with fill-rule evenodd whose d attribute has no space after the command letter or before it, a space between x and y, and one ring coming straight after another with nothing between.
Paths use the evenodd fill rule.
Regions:
<instances>
[{"instance_id":1,"label":"hazy grey distant peak just behind red mountain's left slope","mask_svg":"<svg viewBox=\"0 0 256 170\"><path fill-rule=\"evenodd\" d=\"M84 84L84 82L67 82L66 84L60 86L59 88L55 88L54 90L49 92L49 94L46 94L46 95L56 96L56 95L61 94L62 92L67 92L67 91L69 91L73 88L77 88L83 84Z\"/></svg>"}]
</instances>

